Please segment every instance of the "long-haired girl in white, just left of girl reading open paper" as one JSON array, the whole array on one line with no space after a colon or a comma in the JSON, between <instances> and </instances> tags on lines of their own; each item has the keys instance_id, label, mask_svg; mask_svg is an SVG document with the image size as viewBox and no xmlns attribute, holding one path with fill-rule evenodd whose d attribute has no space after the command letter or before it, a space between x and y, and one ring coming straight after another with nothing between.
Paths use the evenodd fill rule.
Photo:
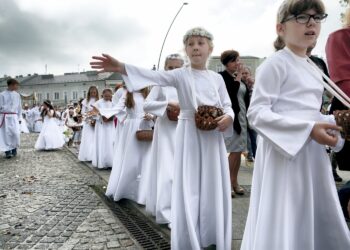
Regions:
<instances>
[{"instance_id":1,"label":"long-haired girl in white, just left of girl reading open paper","mask_svg":"<svg viewBox=\"0 0 350 250\"><path fill-rule=\"evenodd\" d=\"M98 89L96 86L91 86L88 90L87 97L81 103L81 115L85 116L87 112L91 111L91 105L96 101L98 101ZM84 121L78 155L79 161L92 161L93 139L95 134L94 124L95 121L93 119L85 119Z\"/></svg>"}]
</instances>

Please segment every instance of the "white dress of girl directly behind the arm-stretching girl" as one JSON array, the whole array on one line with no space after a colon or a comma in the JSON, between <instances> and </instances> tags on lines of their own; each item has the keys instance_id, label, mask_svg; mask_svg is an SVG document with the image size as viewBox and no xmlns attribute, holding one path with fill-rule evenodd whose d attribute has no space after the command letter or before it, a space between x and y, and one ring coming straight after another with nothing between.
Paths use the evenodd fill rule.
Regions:
<instances>
[{"instance_id":1,"label":"white dress of girl directly behind the arm-stretching girl","mask_svg":"<svg viewBox=\"0 0 350 250\"><path fill-rule=\"evenodd\" d=\"M168 119L166 108L169 102L179 102L176 89L154 86L143 106L145 112L157 116L149 163L151 176L146 211L155 216L156 222L160 224L169 223L171 219L177 122Z\"/></svg>"}]
</instances>

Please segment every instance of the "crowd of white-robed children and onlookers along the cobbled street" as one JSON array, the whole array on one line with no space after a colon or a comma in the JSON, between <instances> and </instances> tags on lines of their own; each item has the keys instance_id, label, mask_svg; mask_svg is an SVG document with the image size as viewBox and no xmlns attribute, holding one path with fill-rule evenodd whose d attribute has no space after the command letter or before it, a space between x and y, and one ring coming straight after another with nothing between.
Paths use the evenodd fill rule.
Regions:
<instances>
[{"instance_id":1,"label":"crowd of white-robed children and onlookers along the cobbled street","mask_svg":"<svg viewBox=\"0 0 350 250\"><path fill-rule=\"evenodd\" d=\"M311 55L326 17L321 0L284 1L276 53L255 77L235 50L222 52L224 71L208 70L213 36L193 28L183 37L189 65L179 54L167 56L163 71L94 56L92 68L118 72L124 84L101 96L91 86L65 110L46 100L21 111L10 79L0 95L1 150L16 156L20 129L40 132L38 150L73 144L80 161L112 168L107 196L144 205L168 224L173 249L231 249L231 198L246 192L238 182L245 153L255 165L241 249L350 249L350 184L341 202L334 185L342 181L337 166L350 170L349 141L332 115L350 102L324 91L312 63L350 95L350 13L328 39L329 73Z\"/></svg>"}]
</instances>

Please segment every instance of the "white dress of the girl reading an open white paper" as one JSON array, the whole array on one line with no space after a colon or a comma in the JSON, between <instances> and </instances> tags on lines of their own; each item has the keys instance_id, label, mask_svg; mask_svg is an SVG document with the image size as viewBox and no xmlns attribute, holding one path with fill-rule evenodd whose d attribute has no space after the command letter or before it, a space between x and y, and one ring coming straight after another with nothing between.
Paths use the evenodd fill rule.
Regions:
<instances>
[{"instance_id":1,"label":"white dress of the girl reading an open white paper","mask_svg":"<svg viewBox=\"0 0 350 250\"><path fill-rule=\"evenodd\" d=\"M111 101L103 99L95 102L98 109L112 108ZM97 168L111 168L113 166L113 142L114 142L114 122L104 122L100 116L96 120L95 133L92 149L92 166Z\"/></svg>"}]
</instances>

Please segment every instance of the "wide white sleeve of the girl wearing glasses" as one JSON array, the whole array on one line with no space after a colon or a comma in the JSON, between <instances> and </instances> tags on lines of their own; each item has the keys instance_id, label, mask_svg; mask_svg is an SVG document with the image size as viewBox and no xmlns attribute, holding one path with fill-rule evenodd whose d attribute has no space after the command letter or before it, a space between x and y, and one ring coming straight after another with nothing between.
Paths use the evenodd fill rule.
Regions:
<instances>
[{"instance_id":1,"label":"wide white sleeve of the girl wearing glasses","mask_svg":"<svg viewBox=\"0 0 350 250\"><path fill-rule=\"evenodd\" d=\"M286 74L283 62L269 60L258 68L247 116L249 124L264 140L292 158L309 140L315 122L286 117L272 111Z\"/></svg>"}]
</instances>

